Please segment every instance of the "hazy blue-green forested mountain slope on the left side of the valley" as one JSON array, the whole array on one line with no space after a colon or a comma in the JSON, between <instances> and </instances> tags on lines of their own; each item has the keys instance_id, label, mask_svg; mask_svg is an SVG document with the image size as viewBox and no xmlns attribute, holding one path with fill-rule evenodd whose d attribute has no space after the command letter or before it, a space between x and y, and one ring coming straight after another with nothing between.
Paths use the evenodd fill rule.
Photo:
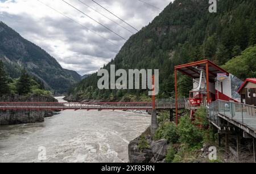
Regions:
<instances>
[{"instance_id":1,"label":"hazy blue-green forested mountain slope on the left side of the valley","mask_svg":"<svg viewBox=\"0 0 256 174\"><path fill-rule=\"evenodd\" d=\"M81 80L75 71L65 70L39 46L24 39L19 33L0 22L0 60L11 78L18 78L25 67L32 76L42 80L47 90L56 94Z\"/></svg>"}]
</instances>

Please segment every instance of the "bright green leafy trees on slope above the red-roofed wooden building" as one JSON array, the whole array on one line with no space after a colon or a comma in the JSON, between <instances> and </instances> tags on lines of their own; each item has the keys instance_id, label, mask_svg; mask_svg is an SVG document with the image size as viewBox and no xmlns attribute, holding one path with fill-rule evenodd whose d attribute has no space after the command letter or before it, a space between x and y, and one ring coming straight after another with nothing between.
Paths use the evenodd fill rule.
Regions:
<instances>
[{"instance_id":1,"label":"bright green leafy trees on slope above the red-roofed wooden building","mask_svg":"<svg viewBox=\"0 0 256 174\"><path fill-rule=\"evenodd\" d=\"M223 68L238 78L256 78L256 45L250 46L240 56L228 61Z\"/></svg>"}]
</instances>

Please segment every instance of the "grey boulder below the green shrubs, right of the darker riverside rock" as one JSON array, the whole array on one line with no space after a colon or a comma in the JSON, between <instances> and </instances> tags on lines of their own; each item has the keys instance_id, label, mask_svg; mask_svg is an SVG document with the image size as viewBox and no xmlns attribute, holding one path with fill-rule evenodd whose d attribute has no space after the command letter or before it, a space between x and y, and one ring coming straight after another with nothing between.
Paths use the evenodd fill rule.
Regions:
<instances>
[{"instance_id":1,"label":"grey boulder below the green shrubs, right of the darker riverside rock","mask_svg":"<svg viewBox=\"0 0 256 174\"><path fill-rule=\"evenodd\" d=\"M163 160L166 158L168 151L168 143L166 139L160 139L158 141L153 141L151 143L151 148L153 155L155 156L155 160Z\"/></svg>"}]
</instances>

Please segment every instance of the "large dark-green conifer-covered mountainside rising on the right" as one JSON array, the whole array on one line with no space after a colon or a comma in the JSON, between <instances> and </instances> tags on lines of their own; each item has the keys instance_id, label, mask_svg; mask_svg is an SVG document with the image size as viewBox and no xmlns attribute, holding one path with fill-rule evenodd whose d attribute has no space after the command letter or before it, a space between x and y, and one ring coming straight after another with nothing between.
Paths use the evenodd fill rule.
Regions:
<instances>
[{"instance_id":1,"label":"large dark-green conifer-covered mountainside rising on the right","mask_svg":"<svg viewBox=\"0 0 256 174\"><path fill-rule=\"evenodd\" d=\"M230 60L225 66L239 77L240 69L233 66L240 65L232 60L241 56L243 65L248 64L246 67L252 73L240 78L255 77L256 0L220 0L217 1L217 13L209 13L208 8L208 0L170 3L148 26L131 36L117 56L103 68L110 69L110 65L115 65L116 69L159 69L160 98L174 96L174 66L192 61L209 59L225 65ZM245 54L251 61L245 61ZM146 97L143 90L100 91L98 79L97 74L93 74L82 80L69 91L71 98L124 101ZM179 79L179 95L187 94L191 80Z\"/></svg>"}]
</instances>

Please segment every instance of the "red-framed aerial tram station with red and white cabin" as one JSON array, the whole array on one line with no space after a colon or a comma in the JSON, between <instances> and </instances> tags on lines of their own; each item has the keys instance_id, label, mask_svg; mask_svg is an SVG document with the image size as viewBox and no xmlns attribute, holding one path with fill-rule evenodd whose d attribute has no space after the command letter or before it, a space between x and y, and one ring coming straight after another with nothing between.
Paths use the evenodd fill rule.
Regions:
<instances>
[{"instance_id":1,"label":"red-framed aerial tram station with red and white cabin","mask_svg":"<svg viewBox=\"0 0 256 174\"><path fill-rule=\"evenodd\" d=\"M175 66L176 101L178 71L193 79L193 89L188 91L188 105L191 109L191 116L201 105L208 107L210 103L216 100L240 101L240 95L237 93L237 89L242 84L242 81L209 60Z\"/></svg>"}]
</instances>

